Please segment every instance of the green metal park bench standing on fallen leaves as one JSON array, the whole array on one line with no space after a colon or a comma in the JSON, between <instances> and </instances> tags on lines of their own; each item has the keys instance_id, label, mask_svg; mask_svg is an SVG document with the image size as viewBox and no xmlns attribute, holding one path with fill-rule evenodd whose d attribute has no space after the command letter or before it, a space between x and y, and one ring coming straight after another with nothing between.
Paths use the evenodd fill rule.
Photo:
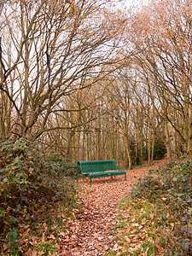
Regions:
<instances>
[{"instance_id":1,"label":"green metal park bench standing on fallen leaves","mask_svg":"<svg viewBox=\"0 0 192 256\"><path fill-rule=\"evenodd\" d=\"M92 177L113 177L125 175L125 170L118 171L115 160L78 161L77 182L79 182L79 166L83 175L90 175L90 185Z\"/></svg>"}]
</instances>

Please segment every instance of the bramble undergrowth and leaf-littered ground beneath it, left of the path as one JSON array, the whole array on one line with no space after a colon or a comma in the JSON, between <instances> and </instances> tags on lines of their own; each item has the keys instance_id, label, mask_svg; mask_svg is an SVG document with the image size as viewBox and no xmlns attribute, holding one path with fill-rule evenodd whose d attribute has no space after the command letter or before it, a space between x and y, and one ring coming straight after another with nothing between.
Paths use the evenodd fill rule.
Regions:
<instances>
[{"instance_id":1,"label":"bramble undergrowth and leaf-littered ground beneath it, left of the path","mask_svg":"<svg viewBox=\"0 0 192 256\"><path fill-rule=\"evenodd\" d=\"M38 148L25 138L0 142L1 255L23 255L29 249L37 255L54 253L67 218L77 208L70 178L74 165Z\"/></svg>"}]
</instances>

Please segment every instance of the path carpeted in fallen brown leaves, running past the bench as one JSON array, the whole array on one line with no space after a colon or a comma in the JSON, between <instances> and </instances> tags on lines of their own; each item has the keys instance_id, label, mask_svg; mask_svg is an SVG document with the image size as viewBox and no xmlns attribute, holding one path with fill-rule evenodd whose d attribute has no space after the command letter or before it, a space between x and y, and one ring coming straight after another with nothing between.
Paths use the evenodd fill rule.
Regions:
<instances>
[{"instance_id":1,"label":"path carpeted in fallen brown leaves, running past the bench","mask_svg":"<svg viewBox=\"0 0 192 256\"><path fill-rule=\"evenodd\" d=\"M138 177L150 169L166 165L167 160L154 161L153 166L127 170L125 176L84 178L79 181L79 198L83 213L67 223L67 233L61 240L60 255L99 256L105 254L113 240L113 228L117 224L119 201L127 195Z\"/></svg>"}]
</instances>

